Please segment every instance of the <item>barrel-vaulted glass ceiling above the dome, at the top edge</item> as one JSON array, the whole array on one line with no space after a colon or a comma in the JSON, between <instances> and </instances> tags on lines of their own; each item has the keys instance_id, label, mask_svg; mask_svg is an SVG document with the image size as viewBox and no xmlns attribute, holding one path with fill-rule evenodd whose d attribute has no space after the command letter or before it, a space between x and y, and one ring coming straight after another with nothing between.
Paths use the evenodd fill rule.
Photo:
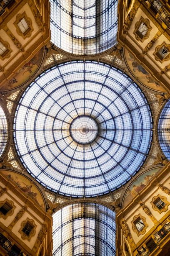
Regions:
<instances>
[{"instance_id":1,"label":"barrel-vaulted glass ceiling above the dome, at the top edge","mask_svg":"<svg viewBox=\"0 0 170 256\"><path fill-rule=\"evenodd\" d=\"M51 41L71 54L98 54L117 42L117 0L50 0Z\"/></svg>"}]
</instances>

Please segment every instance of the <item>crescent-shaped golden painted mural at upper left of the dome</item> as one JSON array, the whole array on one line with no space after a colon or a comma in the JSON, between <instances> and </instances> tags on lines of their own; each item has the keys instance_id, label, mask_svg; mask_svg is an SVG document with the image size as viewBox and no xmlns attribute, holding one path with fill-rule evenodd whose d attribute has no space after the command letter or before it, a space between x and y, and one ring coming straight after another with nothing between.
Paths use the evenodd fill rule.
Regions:
<instances>
[{"instance_id":1,"label":"crescent-shaped golden painted mural at upper left of the dome","mask_svg":"<svg viewBox=\"0 0 170 256\"><path fill-rule=\"evenodd\" d=\"M14 89L28 81L28 79L32 77L40 67L43 55L44 48L41 48L41 50L38 51L35 56L30 61L28 61L28 63L26 63L21 69L18 70L12 79L4 83L4 85L0 88L0 91Z\"/></svg>"}]
</instances>

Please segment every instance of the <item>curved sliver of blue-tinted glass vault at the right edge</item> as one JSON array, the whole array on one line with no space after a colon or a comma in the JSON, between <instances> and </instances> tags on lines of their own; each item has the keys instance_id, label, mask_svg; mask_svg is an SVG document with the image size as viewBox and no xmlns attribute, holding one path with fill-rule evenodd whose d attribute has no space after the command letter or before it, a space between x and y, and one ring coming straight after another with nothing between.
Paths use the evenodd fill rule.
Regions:
<instances>
[{"instance_id":1,"label":"curved sliver of blue-tinted glass vault at the right edge","mask_svg":"<svg viewBox=\"0 0 170 256\"><path fill-rule=\"evenodd\" d=\"M158 140L164 155L170 160L170 100L160 114Z\"/></svg>"}]
</instances>

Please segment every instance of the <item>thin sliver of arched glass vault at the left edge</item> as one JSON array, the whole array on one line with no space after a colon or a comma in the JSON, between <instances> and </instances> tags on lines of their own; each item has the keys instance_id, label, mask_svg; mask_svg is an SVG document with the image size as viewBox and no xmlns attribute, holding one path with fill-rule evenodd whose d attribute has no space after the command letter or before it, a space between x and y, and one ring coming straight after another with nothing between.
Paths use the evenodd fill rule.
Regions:
<instances>
[{"instance_id":1,"label":"thin sliver of arched glass vault at the left edge","mask_svg":"<svg viewBox=\"0 0 170 256\"><path fill-rule=\"evenodd\" d=\"M7 119L3 109L0 106L0 156L2 155L7 144L7 136Z\"/></svg>"}]
</instances>

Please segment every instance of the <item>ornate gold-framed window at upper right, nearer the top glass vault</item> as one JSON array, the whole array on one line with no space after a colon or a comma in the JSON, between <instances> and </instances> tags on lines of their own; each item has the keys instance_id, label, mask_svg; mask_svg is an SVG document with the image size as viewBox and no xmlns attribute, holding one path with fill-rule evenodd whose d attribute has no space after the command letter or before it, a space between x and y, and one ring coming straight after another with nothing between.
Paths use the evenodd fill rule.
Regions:
<instances>
[{"instance_id":1,"label":"ornate gold-framed window at upper right, nearer the top glass vault","mask_svg":"<svg viewBox=\"0 0 170 256\"><path fill-rule=\"evenodd\" d=\"M151 31L151 26L148 19L144 19L143 17L135 24L135 37L137 40L143 42L145 39L149 37L149 33Z\"/></svg>"}]
</instances>

